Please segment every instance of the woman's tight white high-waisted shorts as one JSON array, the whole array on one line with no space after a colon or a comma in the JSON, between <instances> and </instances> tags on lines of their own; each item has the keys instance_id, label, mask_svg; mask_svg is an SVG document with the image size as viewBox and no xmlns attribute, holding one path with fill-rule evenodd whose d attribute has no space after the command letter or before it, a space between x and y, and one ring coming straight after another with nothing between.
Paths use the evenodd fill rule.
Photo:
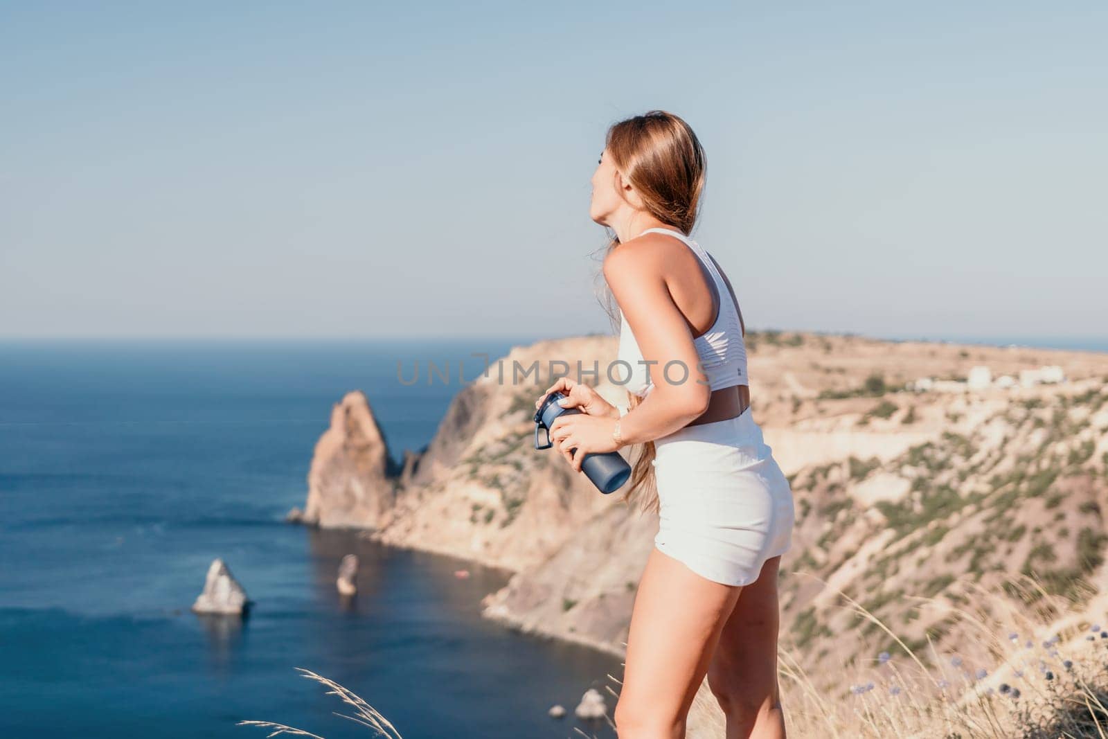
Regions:
<instances>
[{"instance_id":1,"label":"woman's tight white high-waisted shorts","mask_svg":"<svg viewBox=\"0 0 1108 739\"><path fill-rule=\"evenodd\" d=\"M655 439L663 553L725 585L749 585L792 543L792 490L750 409Z\"/></svg>"}]
</instances>

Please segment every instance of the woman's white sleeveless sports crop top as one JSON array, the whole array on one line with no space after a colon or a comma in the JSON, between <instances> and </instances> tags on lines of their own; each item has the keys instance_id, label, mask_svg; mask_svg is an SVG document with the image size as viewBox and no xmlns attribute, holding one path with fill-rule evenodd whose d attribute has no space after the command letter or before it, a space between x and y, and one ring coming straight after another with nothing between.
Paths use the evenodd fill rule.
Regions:
<instances>
[{"instance_id":1,"label":"woman's white sleeveless sports crop top","mask_svg":"<svg viewBox=\"0 0 1108 739\"><path fill-rule=\"evenodd\" d=\"M738 309L731 300L731 291L727 289L724 276L716 269L715 263L709 258L704 247L690 239L679 230L671 228L647 228L643 234L652 230L673 234L681 239L697 257L708 267L709 274L716 283L716 290L719 292L719 311L716 315L716 322L704 332L702 336L694 339L697 356L700 358L701 369L708 378L709 388L719 390L735 384L749 384L747 377L747 347L742 340L742 325L739 321ZM642 234L639 234L642 236ZM619 310L619 350L617 359L630 366L630 379L624 383L624 389L640 398L645 398L654 382L650 381L650 371L659 378L668 378L663 381L680 382L685 377L685 369L679 366L669 368L665 373L666 362L659 361L647 366L644 362L643 353L638 348L638 341L630 330L630 325ZM620 365L620 370L616 373L618 379L623 379L627 372L627 366ZM688 368L688 382L696 382L699 379L696 367Z\"/></svg>"}]
</instances>

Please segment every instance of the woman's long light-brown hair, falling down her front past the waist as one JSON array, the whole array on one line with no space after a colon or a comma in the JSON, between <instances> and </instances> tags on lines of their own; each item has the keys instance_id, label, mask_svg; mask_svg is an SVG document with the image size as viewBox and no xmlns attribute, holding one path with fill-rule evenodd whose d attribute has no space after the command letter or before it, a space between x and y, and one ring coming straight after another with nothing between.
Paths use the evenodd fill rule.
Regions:
<instances>
[{"instance_id":1,"label":"woman's long light-brown hair, falling down her front past the waist","mask_svg":"<svg viewBox=\"0 0 1108 739\"><path fill-rule=\"evenodd\" d=\"M700 141L689 124L667 111L647 111L614 123L605 137L605 147L624 179L643 198L647 213L690 236L704 192L706 162ZM622 196L623 189L617 189ZM608 229L604 256L617 246L619 237ZM618 331L618 305L603 273L601 281L605 295L602 305L612 319L613 329ZM628 410L637 407L640 400L627 391ZM640 444L638 453L633 455L632 475L622 501L629 504L642 499L642 510L657 513L654 459L654 442Z\"/></svg>"}]
</instances>

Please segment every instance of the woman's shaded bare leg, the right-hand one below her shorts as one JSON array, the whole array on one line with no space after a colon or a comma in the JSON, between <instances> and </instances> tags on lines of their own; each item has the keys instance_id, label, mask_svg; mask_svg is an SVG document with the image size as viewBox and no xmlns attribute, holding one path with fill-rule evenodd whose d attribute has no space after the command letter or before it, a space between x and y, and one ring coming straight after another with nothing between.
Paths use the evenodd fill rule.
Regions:
<instances>
[{"instance_id":1,"label":"woman's shaded bare leg, the right-hand one below her shorts","mask_svg":"<svg viewBox=\"0 0 1108 739\"><path fill-rule=\"evenodd\" d=\"M777 575L781 557L766 561L742 588L708 667L708 687L727 716L727 739L783 739L777 682Z\"/></svg>"}]
</instances>

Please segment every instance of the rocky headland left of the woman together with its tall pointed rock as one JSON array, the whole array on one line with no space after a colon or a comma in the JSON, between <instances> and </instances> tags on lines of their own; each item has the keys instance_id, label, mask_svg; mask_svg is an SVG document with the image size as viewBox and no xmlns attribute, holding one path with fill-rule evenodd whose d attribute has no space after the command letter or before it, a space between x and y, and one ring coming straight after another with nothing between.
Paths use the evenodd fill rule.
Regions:
<instances>
[{"instance_id":1,"label":"rocky headland left of the woman together with its tall pointed rock","mask_svg":"<svg viewBox=\"0 0 1108 739\"><path fill-rule=\"evenodd\" d=\"M534 449L534 401L553 382L551 362L581 359L605 367L614 350L609 337L515 347L501 358L504 378L494 362L488 376L461 389L425 450L409 452L399 472L388 466L388 450L365 396L348 394L317 444L305 521L366 527L372 530L367 536L386 544L511 571L550 561L598 517L632 513L618 493L602 495L552 450ZM513 381L516 365L537 371ZM607 383L601 390L625 402L620 388ZM643 525L649 528L652 516L646 519ZM645 553L632 560L620 579L624 592Z\"/></svg>"}]
</instances>

